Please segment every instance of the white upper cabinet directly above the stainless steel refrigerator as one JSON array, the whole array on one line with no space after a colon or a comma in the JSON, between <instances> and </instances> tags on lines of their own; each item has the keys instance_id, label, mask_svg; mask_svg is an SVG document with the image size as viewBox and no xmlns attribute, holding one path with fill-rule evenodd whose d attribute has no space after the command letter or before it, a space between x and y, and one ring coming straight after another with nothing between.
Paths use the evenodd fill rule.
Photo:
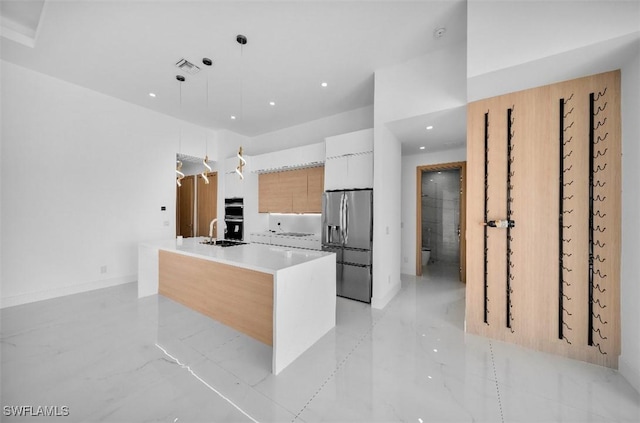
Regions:
<instances>
[{"instance_id":1,"label":"white upper cabinet directly above the stainless steel refrigerator","mask_svg":"<svg viewBox=\"0 0 640 423\"><path fill-rule=\"evenodd\" d=\"M373 129L328 137L324 189L373 188Z\"/></svg>"}]
</instances>

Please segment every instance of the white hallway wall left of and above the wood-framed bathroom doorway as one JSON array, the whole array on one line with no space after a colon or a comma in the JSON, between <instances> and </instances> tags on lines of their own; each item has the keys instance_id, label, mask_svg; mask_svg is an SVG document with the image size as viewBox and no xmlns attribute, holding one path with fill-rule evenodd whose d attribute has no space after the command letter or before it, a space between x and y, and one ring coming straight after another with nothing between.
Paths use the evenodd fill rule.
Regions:
<instances>
[{"instance_id":1,"label":"white hallway wall left of and above the wood-framed bathroom doorway","mask_svg":"<svg viewBox=\"0 0 640 423\"><path fill-rule=\"evenodd\" d=\"M402 156L402 273L416 274L416 168L466 159L466 148Z\"/></svg>"}]
</instances>

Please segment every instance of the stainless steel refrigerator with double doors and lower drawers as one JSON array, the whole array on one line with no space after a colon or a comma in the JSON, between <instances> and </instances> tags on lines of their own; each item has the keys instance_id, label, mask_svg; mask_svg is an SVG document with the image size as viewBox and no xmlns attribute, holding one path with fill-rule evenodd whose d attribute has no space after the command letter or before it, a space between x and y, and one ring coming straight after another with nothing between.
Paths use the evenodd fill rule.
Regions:
<instances>
[{"instance_id":1,"label":"stainless steel refrigerator with double doors and lower drawers","mask_svg":"<svg viewBox=\"0 0 640 423\"><path fill-rule=\"evenodd\" d=\"M326 191L322 197L322 249L336 253L337 292L371 303L373 190Z\"/></svg>"}]
</instances>

